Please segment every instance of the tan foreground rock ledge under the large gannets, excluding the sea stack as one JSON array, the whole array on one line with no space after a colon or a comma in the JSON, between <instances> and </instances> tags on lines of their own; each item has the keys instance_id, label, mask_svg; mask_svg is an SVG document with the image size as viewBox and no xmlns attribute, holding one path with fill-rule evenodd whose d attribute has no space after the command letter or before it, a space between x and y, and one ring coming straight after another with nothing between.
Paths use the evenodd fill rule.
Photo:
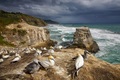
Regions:
<instances>
[{"instance_id":1,"label":"tan foreground rock ledge under the large gannets, excluding the sea stack","mask_svg":"<svg viewBox=\"0 0 120 80\"><path fill-rule=\"evenodd\" d=\"M102 61L92 54L87 54L84 66L80 68L78 76L75 79L71 79L71 73L74 70L74 58L77 53L83 53L84 50L79 48L75 49L62 49L55 52L55 66L32 74L32 80L120 80L120 66ZM29 75L23 74L23 69L33 59L34 54L22 54L21 60L17 63L10 64L12 57L6 60L0 65L0 80L30 80ZM40 59L47 59L46 56L42 56ZM11 76L12 75L12 76ZM21 76L21 77L20 77ZM14 79L13 79L14 78ZM20 78L20 79L18 79Z\"/></svg>"}]
</instances>

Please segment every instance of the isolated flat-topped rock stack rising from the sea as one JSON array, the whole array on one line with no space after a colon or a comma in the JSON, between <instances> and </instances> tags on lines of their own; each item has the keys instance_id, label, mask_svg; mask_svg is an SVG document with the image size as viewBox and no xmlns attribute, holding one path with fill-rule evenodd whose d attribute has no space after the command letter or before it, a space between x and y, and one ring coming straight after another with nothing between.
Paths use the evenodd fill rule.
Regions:
<instances>
[{"instance_id":1,"label":"isolated flat-topped rock stack rising from the sea","mask_svg":"<svg viewBox=\"0 0 120 80\"><path fill-rule=\"evenodd\" d=\"M74 33L74 45L79 48L85 48L90 52L96 53L99 51L98 44L93 40L88 27L80 27Z\"/></svg>"}]
</instances>

